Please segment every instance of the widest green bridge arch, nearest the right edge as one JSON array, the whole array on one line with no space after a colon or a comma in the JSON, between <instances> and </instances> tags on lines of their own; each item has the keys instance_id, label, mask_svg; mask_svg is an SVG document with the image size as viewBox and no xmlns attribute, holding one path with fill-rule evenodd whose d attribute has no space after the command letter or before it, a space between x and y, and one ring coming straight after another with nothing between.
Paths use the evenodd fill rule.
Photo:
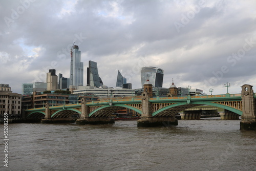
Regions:
<instances>
[{"instance_id":1,"label":"widest green bridge arch, nearest the right edge","mask_svg":"<svg viewBox=\"0 0 256 171\"><path fill-rule=\"evenodd\" d=\"M238 109L234 109L232 107L229 107L229 106L226 106L226 105L223 105L223 104L218 104L218 103L214 103L214 102L206 102L206 101L191 101L189 104L205 104L205 105L212 105L212 106L216 106L216 107L219 107L219 108L223 108L225 110L228 110L228 111L231 111L231 112L234 112L240 116L242 116L243 112L238 110ZM169 108L174 108L176 106L180 106L180 105L188 105L187 102L181 102L181 103L175 103L175 104L172 104L172 105L168 105L168 106L165 106L164 108L154 112L152 114L152 116L156 116L157 114L159 114L160 112L163 112L164 110L166 109L169 109Z\"/></svg>"}]
</instances>

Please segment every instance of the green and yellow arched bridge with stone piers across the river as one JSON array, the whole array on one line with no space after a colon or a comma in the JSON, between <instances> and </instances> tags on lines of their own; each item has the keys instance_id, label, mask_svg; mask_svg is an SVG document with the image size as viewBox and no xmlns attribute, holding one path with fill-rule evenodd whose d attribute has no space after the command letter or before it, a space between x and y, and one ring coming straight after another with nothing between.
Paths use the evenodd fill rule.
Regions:
<instances>
[{"instance_id":1,"label":"green and yellow arched bridge with stone piers across the river","mask_svg":"<svg viewBox=\"0 0 256 171\"><path fill-rule=\"evenodd\" d=\"M158 126L163 122L177 125L175 118L177 113L185 109L199 105L211 105L224 109L220 115L228 118L233 113L241 116L241 130L256 129L255 111L256 93L253 93L252 86L244 84L240 94L222 94L205 96L183 96L183 97L150 97L150 92L144 91L141 96L117 97L102 99L100 101L87 102L84 98L81 103L63 104L58 106L46 106L25 110L27 119L42 118L42 123L71 121L71 116L76 113L80 118L77 124L104 124L114 123L110 117L115 111L128 108L140 114L138 126ZM186 114L181 113L181 117ZM194 116L197 118L197 116Z\"/></svg>"}]
</instances>

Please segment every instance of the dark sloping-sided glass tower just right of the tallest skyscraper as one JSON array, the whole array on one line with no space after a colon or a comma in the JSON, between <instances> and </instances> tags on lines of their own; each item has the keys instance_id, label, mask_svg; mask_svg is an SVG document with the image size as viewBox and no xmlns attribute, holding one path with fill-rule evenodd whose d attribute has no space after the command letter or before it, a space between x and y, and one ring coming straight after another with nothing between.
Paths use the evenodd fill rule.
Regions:
<instances>
[{"instance_id":1,"label":"dark sloping-sided glass tower just right of the tallest skyscraper","mask_svg":"<svg viewBox=\"0 0 256 171\"><path fill-rule=\"evenodd\" d=\"M92 87L100 87L103 85L99 77L97 62L89 60L89 67L87 68L87 85Z\"/></svg>"}]
</instances>

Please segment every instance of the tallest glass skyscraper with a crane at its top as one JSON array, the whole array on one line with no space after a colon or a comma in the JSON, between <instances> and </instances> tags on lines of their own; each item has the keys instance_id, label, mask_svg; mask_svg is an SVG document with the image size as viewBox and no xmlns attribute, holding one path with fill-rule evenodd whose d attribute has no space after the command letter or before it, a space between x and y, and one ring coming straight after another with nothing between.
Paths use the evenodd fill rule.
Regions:
<instances>
[{"instance_id":1,"label":"tallest glass skyscraper with a crane at its top","mask_svg":"<svg viewBox=\"0 0 256 171\"><path fill-rule=\"evenodd\" d=\"M83 62L77 45L71 49L70 86L83 86Z\"/></svg>"}]
</instances>

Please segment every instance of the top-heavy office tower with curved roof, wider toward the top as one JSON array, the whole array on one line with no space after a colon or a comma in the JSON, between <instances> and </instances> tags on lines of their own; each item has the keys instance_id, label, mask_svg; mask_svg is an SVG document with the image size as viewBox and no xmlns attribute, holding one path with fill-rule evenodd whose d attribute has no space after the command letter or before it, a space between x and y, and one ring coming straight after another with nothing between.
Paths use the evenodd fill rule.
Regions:
<instances>
[{"instance_id":1,"label":"top-heavy office tower with curved roof, wider toward the top","mask_svg":"<svg viewBox=\"0 0 256 171\"><path fill-rule=\"evenodd\" d=\"M163 86L163 70L157 67L143 67L140 70L141 86L143 88L146 80L150 80L153 87Z\"/></svg>"}]
</instances>

